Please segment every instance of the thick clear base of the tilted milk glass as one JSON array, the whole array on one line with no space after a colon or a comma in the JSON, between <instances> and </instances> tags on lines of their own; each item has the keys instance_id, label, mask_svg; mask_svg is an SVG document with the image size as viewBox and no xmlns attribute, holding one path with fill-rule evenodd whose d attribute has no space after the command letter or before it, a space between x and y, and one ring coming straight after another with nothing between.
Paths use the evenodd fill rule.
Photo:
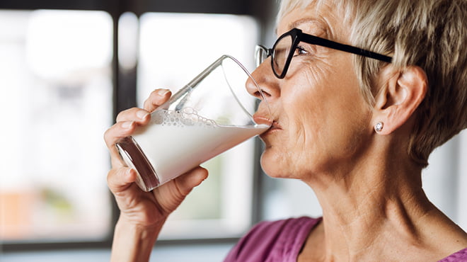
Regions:
<instances>
[{"instance_id":1,"label":"thick clear base of the tilted milk glass","mask_svg":"<svg viewBox=\"0 0 467 262\"><path fill-rule=\"evenodd\" d=\"M160 185L156 171L133 137L118 139L115 147L125 164L137 171L136 183L139 188L149 192Z\"/></svg>"}]
</instances>

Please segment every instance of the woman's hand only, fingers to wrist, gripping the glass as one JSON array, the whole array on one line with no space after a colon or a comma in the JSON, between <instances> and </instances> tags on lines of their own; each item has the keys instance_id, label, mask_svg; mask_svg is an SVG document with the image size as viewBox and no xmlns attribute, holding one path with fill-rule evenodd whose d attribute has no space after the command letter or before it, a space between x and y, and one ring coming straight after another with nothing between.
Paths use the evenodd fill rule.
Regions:
<instances>
[{"instance_id":1,"label":"woman's hand only, fingers to wrist, gripping the glass","mask_svg":"<svg viewBox=\"0 0 467 262\"><path fill-rule=\"evenodd\" d=\"M130 108L122 111L117 116L117 123L105 132L104 139L112 161L107 181L120 208L119 223L143 228L161 227L192 188L207 178L207 170L198 166L151 192L144 192L133 183L137 178L136 171L125 166L120 159L115 142L132 135L137 126L149 123L150 113L170 96L171 92L166 89L153 91L144 102L144 109Z\"/></svg>"}]
</instances>

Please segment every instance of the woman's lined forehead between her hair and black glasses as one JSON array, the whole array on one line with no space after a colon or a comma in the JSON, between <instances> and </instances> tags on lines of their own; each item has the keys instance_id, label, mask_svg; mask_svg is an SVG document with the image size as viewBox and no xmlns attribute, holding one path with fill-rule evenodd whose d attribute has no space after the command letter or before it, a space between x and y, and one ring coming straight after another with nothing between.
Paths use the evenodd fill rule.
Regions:
<instances>
[{"instance_id":1,"label":"woman's lined forehead between her hair and black glasses","mask_svg":"<svg viewBox=\"0 0 467 262\"><path fill-rule=\"evenodd\" d=\"M333 1L302 1L302 4L282 6L277 21L277 35L292 28L306 33L321 31L325 35L340 35L343 29L342 8ZM306 4L303 4L306 3Z\"/></svg>"}]
</instances>

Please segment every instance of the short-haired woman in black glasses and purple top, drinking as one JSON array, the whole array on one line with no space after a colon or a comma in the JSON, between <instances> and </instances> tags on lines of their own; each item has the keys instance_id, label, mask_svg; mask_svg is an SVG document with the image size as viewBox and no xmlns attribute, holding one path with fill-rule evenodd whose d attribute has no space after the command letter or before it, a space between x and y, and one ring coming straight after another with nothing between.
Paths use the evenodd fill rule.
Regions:
<instances>
[{"instance_id":1,"label":"short-haired woman in black glasses and purple top, drinking","mask_svg":"<svg viewBox=\"0 0 467 262\"><path fill-rule=\"evenodd\" d=\"M432 150L467 127L466 13L465 0L282 2L279 40L253 72L274 121L261 164L308 184L323 217L262 222L226 261L467 261L466 232L421 182ZM105 134L121 210L113 261L147 261L166 217L207 177L198 167L144 193L117 156L115 141L169 97L154 91Z\"/></svg>"}]
</instances>

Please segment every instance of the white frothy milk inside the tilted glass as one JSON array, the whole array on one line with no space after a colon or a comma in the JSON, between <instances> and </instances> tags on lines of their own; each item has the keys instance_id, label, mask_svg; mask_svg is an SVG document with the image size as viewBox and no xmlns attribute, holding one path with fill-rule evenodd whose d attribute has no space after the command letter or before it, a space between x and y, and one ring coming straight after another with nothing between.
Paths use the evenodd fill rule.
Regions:
<instances>
[{"instance_id":1,"label":"white frothy milk inside the tilted glass","mask_svg":"<svg viewBox=\"0 0 467 262\"><path fill-rule=\"evenodd\" d=\"M151 115L151 123L132 137L162 184L267 128L268 125L221 126L195 112L157 110Z\"/></svg>"}]
</instances>

